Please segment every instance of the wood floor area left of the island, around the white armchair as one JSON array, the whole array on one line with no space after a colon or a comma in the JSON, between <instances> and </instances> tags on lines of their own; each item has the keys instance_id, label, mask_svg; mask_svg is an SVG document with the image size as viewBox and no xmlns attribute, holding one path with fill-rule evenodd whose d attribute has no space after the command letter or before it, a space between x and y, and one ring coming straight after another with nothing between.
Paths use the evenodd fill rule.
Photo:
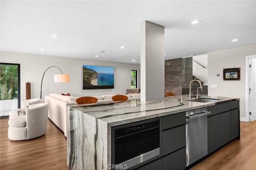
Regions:
<instances>
[{"instance_id":1,"label":"wood floor area left of the island, around the white armchair","mask_svg":"<svg viewBox=\"0 0 256 170\"><path fill-rule=\"evenodd\" d=\"M8 119L0 119L0 170L69 170L66 138L49 119L45 135L26 141L8 139Z\"/></svg>"}]
</instances>

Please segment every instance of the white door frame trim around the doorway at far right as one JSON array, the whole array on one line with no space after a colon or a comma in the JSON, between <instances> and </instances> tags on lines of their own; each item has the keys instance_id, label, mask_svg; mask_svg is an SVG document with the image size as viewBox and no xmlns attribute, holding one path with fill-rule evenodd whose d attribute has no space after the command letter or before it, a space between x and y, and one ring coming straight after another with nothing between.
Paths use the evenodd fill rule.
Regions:
<instances>
[{"instance_id":1,"label":"white door frame trim around the doorway at far right","mask_svg":"<svg viewBox=\"0 0 256 170\"><path fill-rule=\"evenodd\" d=\"M250 115L249 115L249 108L250 108L250 96L249 96L249 81L250 81L250 67L249 67L249 59L250 58L256 58L256 55L250 55L246 56L246 61L245 61L245 118L241 118L241 121L250 121Z\"/></svg>"}]
</instances>

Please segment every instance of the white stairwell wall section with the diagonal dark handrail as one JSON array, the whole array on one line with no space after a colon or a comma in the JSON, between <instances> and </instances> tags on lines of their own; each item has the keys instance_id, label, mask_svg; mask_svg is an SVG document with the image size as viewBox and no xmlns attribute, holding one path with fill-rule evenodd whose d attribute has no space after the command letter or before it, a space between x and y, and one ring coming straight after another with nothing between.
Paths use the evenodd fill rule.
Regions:
<instances>
[{"instance_id":1,"label":"white stairwell wall section with the diagonal dark handrail","mask_svg":"<svg viewBox=\"0 0 256 170\"><path fill-rule=\"evenodd\" d=\"M193 56L193 60L206 67L203 68L198 63L193 61L193 76L196 76L204 83L208 83L208 55Z\"/></svg>"}]
</instances>

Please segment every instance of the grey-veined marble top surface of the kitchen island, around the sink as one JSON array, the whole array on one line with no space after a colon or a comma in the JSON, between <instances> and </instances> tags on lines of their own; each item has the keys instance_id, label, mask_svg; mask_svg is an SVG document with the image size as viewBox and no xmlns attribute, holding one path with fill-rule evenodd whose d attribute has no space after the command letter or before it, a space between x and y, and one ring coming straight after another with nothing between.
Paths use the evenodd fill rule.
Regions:
<instances>
[{"instance_id":1,"label":"grey-veined marble top surface of the kitchen island, around the sink","mask_svg":"<svg viewBox=\"0 0 256 170\"><path fill-rule=\"evenodd\" d=\"M181 97L183 100L181 102ZM211 98L211 96L200 96L200 98ZM82 111L92 117L106 122L110 127L170 115L192 109L213 106L239 98L216 97L216 102L191 102L188 95L171 96L164 100L142 102L140 100L130 100L120 103L106 103L84 106L70 106L78 111Z\"/></svg>"}]
</instances>

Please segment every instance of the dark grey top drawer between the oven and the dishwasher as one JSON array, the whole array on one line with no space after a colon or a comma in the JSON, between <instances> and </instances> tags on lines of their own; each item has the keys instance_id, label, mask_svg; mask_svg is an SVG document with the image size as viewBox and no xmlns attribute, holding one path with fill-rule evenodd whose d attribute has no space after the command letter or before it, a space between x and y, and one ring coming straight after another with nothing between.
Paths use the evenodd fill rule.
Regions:
<instances>
[{"instance_id":1,"label":"dark grey top drawer between the oven and the dishwasher","mask_svg":"<svg viewBox=\"0 0 256 170\"><path fill-rule=\"evenodd\" d=\"M162 118L162 130L186 123L186 112L176 113Z\"/></svg>"}]
</instances>

